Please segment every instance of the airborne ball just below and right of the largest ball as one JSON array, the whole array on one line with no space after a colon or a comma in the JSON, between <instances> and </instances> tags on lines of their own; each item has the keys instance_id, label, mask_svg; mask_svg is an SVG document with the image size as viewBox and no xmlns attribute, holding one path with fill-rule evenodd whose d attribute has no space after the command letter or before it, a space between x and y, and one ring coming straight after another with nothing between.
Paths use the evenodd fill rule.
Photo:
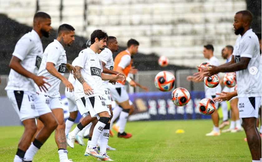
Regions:
<instances>
[{"instance_id":1,"label":"airborne ball just below and right of the largest ball","mask_svg":"<svg viewBox=\"0 0 262 162\"><path fill-rule=\"evenodd\" d=\"M185 88L176 88L171 95L172 102L177 106L185 106L190 101L190 94Z\"/></svg>"}]
</instances>

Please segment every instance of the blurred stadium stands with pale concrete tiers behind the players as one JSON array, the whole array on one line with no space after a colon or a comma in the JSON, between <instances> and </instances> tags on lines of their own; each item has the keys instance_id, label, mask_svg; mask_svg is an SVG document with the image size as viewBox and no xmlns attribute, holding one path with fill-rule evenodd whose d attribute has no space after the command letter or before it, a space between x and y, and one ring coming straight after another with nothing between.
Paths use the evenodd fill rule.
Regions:
<instances>
[{"instance_id":1,"label":"blurred stadium stands with pale concrete tiers behind the players","mask_svg":"<svg viewBox=\"0 0 262 162\"><path fill-rule=\"evenodd\" d=\"M32 30L36 12L51 16L53 31L43 38L43 47L56 39L58 26L67 23L75 28L76 38L66 47L69 63L95 29L102 29L119 42L117 53L126 48L130 38L140 45L134 56L138 73L133 76L150 91L157 91L153 79L162 70L176 77L176 87L203 90L203 83L190 83L186 77L196 72L196 66L206 61L203 45L214 45L214 55L225 63L221 50L235 44L234 15L240 10L254 15L253 31L261 32L261 0L0 0L0 96L9 73L9 61L16 42ZM159 56L167 56L170 65L158 65ZM65 74L67 77L68 74ZM61 94L64 94L61 85ZM129 92L143 92L129 88Z\"/></svg>"}]
</instances>

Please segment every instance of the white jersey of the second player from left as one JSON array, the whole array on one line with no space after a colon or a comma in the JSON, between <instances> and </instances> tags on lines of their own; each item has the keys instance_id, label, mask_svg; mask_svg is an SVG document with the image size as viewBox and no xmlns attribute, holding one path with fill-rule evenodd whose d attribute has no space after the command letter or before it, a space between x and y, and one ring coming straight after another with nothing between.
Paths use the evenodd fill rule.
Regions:
<instances>
[{"instance_id":1,"label":"white jersey of the second player from left","mask_svg":"<svg viewBox=\"0 0 262 162\"><path fill-rule=\"evenodd\" d=\"M37 85L36 88L38 89L37 92L39 93L43 93L43 94L45 93L50 97L60 97L59 85L61 80L56 78L46 70L47 62L53 63L56 70L61 75L64 75L66 69L66 62L67 62L65 49L61 45L61 43L56 39L52 43L47 45L37 74L38 76L44 76L48 78L46 82L49 83L51 87L49 85L46 85L46 88L48 89L46 93L44 91L41 92Z\"/></svg>"}]
</instances>

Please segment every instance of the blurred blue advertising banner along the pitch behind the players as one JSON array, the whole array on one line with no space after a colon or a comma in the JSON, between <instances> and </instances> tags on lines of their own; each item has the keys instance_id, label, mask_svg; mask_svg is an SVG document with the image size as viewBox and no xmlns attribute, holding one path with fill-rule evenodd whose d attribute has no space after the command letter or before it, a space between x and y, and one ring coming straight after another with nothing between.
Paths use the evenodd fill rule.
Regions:
<instances>
[{"instance_id":1,"label":"blurred blue advertising banner along the pitch behind the players","mask_svg":"<svg viewBox=\"0 0 262 162\"><path fill-rule=\"evenodd\" d=\"M186 120L186 119L210 119L210 115L202 115L198 109L198 103L205 97L204 91L191 91L191 100L185 106L176 106L171 100L172 92L148 92L129 94L135 110L129 116L128 121L147 120ZM67 99L61 96L65 119L69 117ZM80 113L75 120L79 122Z\"/></svg>"}]
</instances>

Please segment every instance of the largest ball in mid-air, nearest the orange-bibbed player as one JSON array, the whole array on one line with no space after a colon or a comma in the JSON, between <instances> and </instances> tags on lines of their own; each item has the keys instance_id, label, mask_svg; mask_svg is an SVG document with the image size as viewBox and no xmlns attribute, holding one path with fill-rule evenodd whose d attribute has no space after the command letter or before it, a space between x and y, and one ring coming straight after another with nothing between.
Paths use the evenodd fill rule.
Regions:
<instances>
[{"instance_id":1,"label":"largest ball in mid-air, nearest the orange-bibbed player","mask_svg":"<svg viewBox=\"0 0 262 162\"><path fill-rule=\"evenodd\" d=\"M175 76L168 71L161 71L155 77L155 86L160 91L170 91L175 86Z\"/></svg>"}]
</instances>

